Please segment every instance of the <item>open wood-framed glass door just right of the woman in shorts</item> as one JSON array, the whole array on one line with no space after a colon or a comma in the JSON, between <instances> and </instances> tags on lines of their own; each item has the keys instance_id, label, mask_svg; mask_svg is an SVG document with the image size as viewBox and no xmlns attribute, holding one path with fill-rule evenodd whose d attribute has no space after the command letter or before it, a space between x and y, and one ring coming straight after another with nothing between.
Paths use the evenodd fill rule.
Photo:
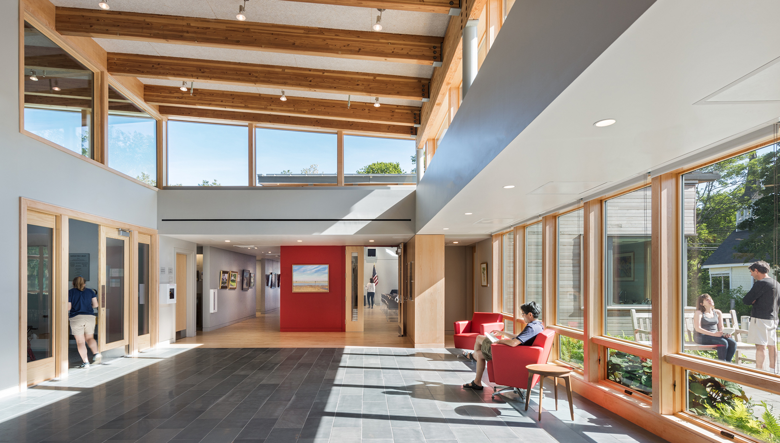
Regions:
<instances>
[{"instance_id":1,"label":"open wood-framed glass door just right of the woman in shorts","mask_svg":"<svg viewBox=\"0 0 780 443\"><path fill-rule=\"evenodd\" d=\"M97 316L101 352L128 343L129 237L120 235L123 233L127 231L101 226L101 293Z\"/></svg>"}]
</instances>

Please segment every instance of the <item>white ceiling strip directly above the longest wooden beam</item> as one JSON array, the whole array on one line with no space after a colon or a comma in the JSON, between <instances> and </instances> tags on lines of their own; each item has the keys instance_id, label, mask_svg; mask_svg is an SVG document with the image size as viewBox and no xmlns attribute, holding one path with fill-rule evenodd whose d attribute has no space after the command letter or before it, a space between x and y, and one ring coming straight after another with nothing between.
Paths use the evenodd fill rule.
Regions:
<instances>
[{"instance_id":1,"label":"white ceiling strip directly above the longest wooden beam","mask_svg":"<svg viewBox=\"0 0 780 443\"><path fill-rule=\"evenodd\" d=\"M56 6L98 9L97 0L52 0ZM242 0L112 0L112 11L144 12L163 16L200 17L236 20ZM294 26L314 26L339 30L370 31L378 11L354 6L318 5L281 0L246 2L246 21ZM238 21L238 20L236 20ZM432 12L409 12L388 9L382 12L385 33L435 35L443 37L449 16Z\"/></svg>"}]
</instances>

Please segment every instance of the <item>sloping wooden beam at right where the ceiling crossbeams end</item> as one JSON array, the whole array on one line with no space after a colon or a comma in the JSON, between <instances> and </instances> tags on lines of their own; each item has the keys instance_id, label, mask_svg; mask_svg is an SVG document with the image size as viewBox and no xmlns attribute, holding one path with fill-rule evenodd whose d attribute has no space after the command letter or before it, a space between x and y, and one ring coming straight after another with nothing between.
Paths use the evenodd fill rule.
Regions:
<instances>
[{"instance_id":1,"label":"sloping wooden beam at right where the ceiling crossbeams end","mask_svg":"<svg viewBox=\"0 0 780 443\"><path fill-rule=\"evenodd\" d=\"M444 110L444 102L449 93L449 86L457 84L456 72L461 60L463 60L463 27L469 19L478 19L482 9L488 0L463 0L463 9L460 16L453 16L449 20L447 33L444 36L444 53L442 65L434 68L431 78L431 100L425 102L422 107L422 123L418 130L417 146L425 144L425 141L436 135L434 121L439 121Z\"/></svg>"}]
</instances>

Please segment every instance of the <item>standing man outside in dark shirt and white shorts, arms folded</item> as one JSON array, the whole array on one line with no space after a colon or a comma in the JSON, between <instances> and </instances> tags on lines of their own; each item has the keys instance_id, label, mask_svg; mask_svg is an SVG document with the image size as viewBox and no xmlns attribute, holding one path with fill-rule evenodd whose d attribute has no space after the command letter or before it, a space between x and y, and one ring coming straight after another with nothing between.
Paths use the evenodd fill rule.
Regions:
<instances>
[{"instance_id":1,"label":"standing man outside in dark shirt and white shorts, arms folded","mask_svg":"<svg viewBox=\"0 0 780 443\"><path fill-rule=\"evenodd\" d=\"M747 341L756 345L756 368L762 371L766 370L766 350L769 348L769 367L775 372L780 288L778 282L768 276L769 263L761 260L748 269L756 282L742 300L744 304L752 306Z\"/></svg>"}]
</instances>

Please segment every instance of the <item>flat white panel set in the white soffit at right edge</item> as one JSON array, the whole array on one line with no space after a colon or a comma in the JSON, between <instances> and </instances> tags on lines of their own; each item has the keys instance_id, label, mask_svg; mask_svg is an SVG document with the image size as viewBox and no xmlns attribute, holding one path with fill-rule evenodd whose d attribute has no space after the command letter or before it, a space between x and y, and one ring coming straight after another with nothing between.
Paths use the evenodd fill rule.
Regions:
<instances>
[{"instance_id":1,"label":"flat white panel set in the white soffit at right edge","mask_svg":"<svg viewBox=\"0 0 780 443\"><path fill-rule=\"evenodd\" d=\"M780 103L780 58L704 97L697 104Z\"/></svg>"}]
</instances>

